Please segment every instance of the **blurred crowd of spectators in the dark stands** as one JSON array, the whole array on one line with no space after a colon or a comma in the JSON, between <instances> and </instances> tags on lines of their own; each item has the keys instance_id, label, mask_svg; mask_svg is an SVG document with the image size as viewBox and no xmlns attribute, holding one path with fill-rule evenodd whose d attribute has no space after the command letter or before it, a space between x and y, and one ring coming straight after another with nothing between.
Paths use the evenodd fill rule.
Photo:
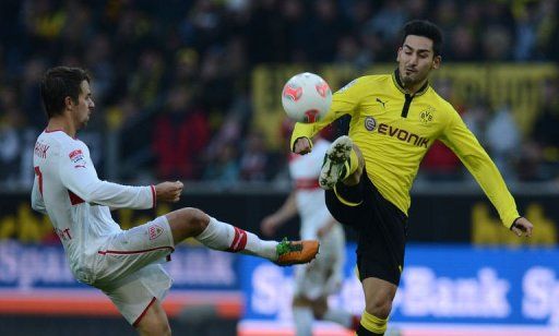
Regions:
<instances>
[{"instance_id":1,"label":"blurred crowd of spectators in the dark stands","mask_svg":"<svg viewBox=\"0 0 559 336\"><path fill-rule=\"evenodd\" d=\"M284 176L285 153L252 127L251 70L260 63L394 62L402 25L443 29L447 61L558 62L556 0L23 0L0 2L0 182L28 185L38 92L52 65L86 68L96 110L80 134L99 175L223 185ZM452 101L451 83L433 83ZM557 180L559 84L527 135L510 107L456 106L510 179ZM445 94L447 92L447 94ZM462 180L439 144L421 178Z\"/></svg>"}]
</instances>

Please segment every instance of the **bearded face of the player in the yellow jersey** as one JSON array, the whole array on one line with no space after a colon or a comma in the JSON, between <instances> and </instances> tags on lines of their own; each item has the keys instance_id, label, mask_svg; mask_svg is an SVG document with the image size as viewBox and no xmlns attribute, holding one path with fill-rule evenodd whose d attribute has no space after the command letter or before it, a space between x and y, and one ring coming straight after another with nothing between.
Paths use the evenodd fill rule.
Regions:
<instances>
[{"instance_id":1,"label":"bearded face of the player in the yellow jersey","mask_svg":"<svg viewBox=\"0 0 559 336\"><path fill-rule=\"evenodd\" d=\"M432 69L439 69L441 57L435 56L430 38L408 35L397 50L397 62L403 84L411 86L423 84Z\"/></svg>"}]
</instances>

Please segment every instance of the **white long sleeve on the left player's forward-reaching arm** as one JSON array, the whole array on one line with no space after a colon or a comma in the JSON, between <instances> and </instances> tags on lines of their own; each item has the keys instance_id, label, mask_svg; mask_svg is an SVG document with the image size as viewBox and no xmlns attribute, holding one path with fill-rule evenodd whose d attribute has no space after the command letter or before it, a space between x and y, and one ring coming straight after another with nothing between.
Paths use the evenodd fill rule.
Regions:
<instances>
[{"instance_id":1,"label":"white long sleeve on the left player's forward-reaching arm","mask_svg":"<svg viewBox=\"0 0 559 336\"><path fill-rule=\"evenodd\" d=\"M99 180L85 145L66 146L61 151L59 173L64 187L87 203L116 208L155 206L153 185L130 187Z\"/></svg>"}]
</instances>

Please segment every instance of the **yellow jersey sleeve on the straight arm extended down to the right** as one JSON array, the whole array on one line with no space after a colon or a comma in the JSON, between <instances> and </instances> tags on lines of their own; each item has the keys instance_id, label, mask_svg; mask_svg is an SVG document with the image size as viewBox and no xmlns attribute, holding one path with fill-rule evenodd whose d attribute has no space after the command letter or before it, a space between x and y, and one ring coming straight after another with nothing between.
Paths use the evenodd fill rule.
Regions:
<instances>
[{"instance_id":1,"label":"yellow jersey sleeve on the straight arm extended down to the right","mask_svg":"<svg viewBox=\"0 0 559 336\"><path fill-rule=\"evenodd\" d=\"M514 199L489 155L459 113L450 109L450 120L440 140L459 156L497 208L503 226L510 228L520 217Z\"/></svg>"}]
</instances>

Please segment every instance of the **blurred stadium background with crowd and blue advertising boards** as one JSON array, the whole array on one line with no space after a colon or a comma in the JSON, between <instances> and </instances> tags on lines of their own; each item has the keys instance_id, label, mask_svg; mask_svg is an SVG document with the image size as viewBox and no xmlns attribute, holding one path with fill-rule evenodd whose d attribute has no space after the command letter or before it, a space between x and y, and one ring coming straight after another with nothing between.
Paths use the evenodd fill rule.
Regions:
<instances>
[{"instance_id":1,"label":"blurred stadium background with crowd and blue advertising boards","mask_svg":"<svg viewBox=\"0 0 559 336\"><path fill-rule=\"evenodd\" d=\"M96 110L80 137L100 176L131 184L186 181L177 205L118 211L123 227L189 205L258 232L290 188L283 83L312 71L336 89L358 75L392 71L399 28L421 17L445 38L431 84L496 160L535 236L503 230L460 161L435 145L413 190L393 332L559 335L558 5L1 1L0 334L133 334L107 300L72 280L48 219L29 207L32 148L46 122L38 82L48 67L79 65L93 75ZM332 136L346 124L334 124ZM285 235L297 236L296 220L276 238ZM191 242L174 259L165 308L177 335L288 335L289 269ZM285 285L271 286L277 283ZM358 313L359 295L348 265L332 303ZM345 335L331 324L317 331Z\"/></svg>"}]
</instances>

